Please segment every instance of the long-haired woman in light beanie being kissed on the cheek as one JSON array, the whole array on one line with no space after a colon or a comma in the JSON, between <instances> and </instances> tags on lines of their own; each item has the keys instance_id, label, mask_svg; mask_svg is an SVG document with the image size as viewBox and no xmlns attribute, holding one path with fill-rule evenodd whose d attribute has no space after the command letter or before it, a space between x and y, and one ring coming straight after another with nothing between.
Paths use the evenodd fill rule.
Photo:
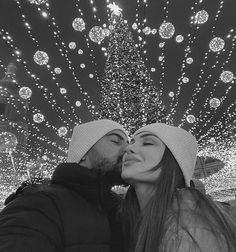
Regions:
<instances>
[{"instance_id":1,"label":"long-haired woman in light beanie being kissed on the cheek","mask_svg":"<svg viewBox=\"0 0 236 252\"><path fill-rule=\"evenodd\" d=\"M190 187L196 156L183 129L155 123L134 133L122 166L126 251L236 251L230 216Z\"/></svg>"}]
</instances>

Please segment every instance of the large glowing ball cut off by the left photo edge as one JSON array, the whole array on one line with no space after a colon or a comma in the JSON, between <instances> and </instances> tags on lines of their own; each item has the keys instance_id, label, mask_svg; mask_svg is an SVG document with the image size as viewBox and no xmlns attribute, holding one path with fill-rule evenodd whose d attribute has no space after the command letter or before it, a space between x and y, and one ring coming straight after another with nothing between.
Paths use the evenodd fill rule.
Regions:
<instances>
[{"instance_id":1,"label":"large glowing ball cut off by the left photo edge","mask_svg":"<svg viewBox=\"0 0 236 252\"><path fill-rule=\"evenodd\" d=\"M17 144L17 137L12 132L0 132L0 152L13 151Z\"/></svg>"}]
</instances>

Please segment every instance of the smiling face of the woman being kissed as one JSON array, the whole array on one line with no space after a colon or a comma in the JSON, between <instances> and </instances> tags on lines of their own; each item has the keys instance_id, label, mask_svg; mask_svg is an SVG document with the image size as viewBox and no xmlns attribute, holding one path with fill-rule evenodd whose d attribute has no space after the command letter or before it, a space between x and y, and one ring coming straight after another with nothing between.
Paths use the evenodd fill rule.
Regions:
<instances>
[{"instance_id":1,"label":"smiling face of the woman being kissed","mask_svg":"<svg viewBox=\"0 0 236 252\"><path fill-rule=\"evenodd\" d=\"M165 144L150 132L144 131L135 135L125 150L122 178L130 184L155 182L161 169L153 168L160 163L165 147Z\"/></svg>"}]
</instances>

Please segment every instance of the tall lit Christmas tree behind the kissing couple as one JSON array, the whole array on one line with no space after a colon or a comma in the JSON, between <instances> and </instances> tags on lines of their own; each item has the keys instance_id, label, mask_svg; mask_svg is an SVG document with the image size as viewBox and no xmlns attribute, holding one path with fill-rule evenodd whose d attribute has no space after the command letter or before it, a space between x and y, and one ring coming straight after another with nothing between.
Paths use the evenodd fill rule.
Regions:
<instances>
[{"instance_id":1,"label":"tall lit Christmas tree behind the kissing couple","mask_svg":"<svg viewBox=\"0 0 236 252\"><path fill-rule=\"evenodd\" d=\"M101 83L100 118L119 122L130 134L146 124L165 122L166 110L158 89L120 10L113 9L109 23L111 33Z\"/></svg>"}]
</instances>

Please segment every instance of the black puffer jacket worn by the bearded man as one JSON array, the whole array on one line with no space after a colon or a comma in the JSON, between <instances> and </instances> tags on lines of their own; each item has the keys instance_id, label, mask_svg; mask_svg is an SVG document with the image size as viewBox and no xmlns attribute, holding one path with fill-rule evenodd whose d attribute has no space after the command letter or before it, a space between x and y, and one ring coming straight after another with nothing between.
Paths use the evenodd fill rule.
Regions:
<instances>
[{"instance_id":1,"label":"black puffer jacket worn by the bearded man","mask_svg":"<svg viewBox=\"0 0 236 252\"><path fill-rule=\"evenodd\" d=\"M122 252L113 177L59 165L49 186L27 186L0 213L1 252Z\"/></svg>"}]
</instances>

